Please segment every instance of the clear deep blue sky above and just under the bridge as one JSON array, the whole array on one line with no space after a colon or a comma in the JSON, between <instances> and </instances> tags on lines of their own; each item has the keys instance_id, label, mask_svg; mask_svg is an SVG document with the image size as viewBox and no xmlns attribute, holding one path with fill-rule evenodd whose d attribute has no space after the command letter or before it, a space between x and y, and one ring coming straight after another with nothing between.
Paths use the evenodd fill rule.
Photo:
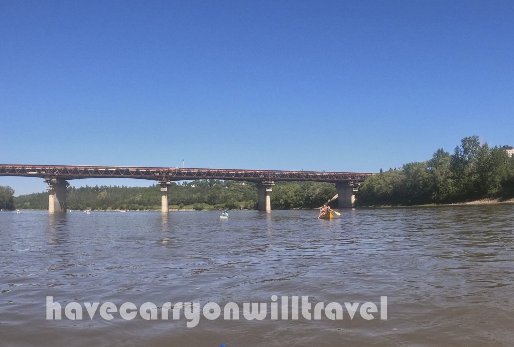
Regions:
<instances>
[{"instance_id":1,"label":"clear deep blue sky above and just under the bridge","mask_svg":"<svg viewBox=\"0 0 514 347\"><path fill-rule=\"evenodd\" d=\"M378 172L513 145L513 23L500 0L2 0L0 164Z\"/></svg>"}]
</instances>

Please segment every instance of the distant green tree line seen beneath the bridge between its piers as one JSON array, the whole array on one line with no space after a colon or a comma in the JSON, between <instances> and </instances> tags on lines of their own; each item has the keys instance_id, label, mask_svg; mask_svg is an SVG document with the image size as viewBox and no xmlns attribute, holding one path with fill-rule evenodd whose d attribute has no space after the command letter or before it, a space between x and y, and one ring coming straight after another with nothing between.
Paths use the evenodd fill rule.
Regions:
<instances>
[{"instance_id":1,"label":"distant green tree line seen beneath the bridge between its piers","mask_svg":"<svg viewBox=\"0 0 514 347\"><path fill-rule=\"evenodd\" d=\"M271 192L273 209L315 208L337 193L334 184L321 182L277 182ZM67 208L71 210L160 210L161 192L151 187L68 187ZM16 208L47 209L48 193L14 197ZM168 188L172 209L256 209L258 188L252 182L194 180Z\"/></svg>"}]
</instances>

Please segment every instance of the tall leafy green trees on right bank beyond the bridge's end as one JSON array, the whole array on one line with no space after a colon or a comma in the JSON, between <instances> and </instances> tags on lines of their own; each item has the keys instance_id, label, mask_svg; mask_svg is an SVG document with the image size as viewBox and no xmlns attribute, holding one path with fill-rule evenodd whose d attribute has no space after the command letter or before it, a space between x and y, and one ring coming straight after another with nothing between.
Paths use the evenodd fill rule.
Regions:
<instances>
[{"instance_id":1,"label":"tall leafy green trees on right bank beyond the bridge's end","mask_svg":"<svg viewBox=\"0 0 514 347\"><path fill-rule=\"evenodd\" d=\"M381 171L381 170L380 170ZM438 149L431 159L410 162L366 179L357 205L417 205L514 196L514 157L468 136L453 154Z\"/></svg>"}]
</instances>

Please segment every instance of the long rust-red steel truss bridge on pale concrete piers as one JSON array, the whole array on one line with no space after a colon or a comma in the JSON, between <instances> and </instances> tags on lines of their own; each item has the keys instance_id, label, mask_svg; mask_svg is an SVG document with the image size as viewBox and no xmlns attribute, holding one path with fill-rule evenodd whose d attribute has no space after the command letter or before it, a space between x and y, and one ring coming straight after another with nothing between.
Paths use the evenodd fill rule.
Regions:
<instances>
[{"instance_id":1,"label":"long rust-red steel truss bridge on pale concrete piers","mask_svg":"<svg viewBox=\"0 0 514 347\"><path fill-rule=\"evenodd\" d=\"M40 177L47 184L48 211L66 212L66 187L69 180L82 178L137 178L158 182L161 191L161 211L168 212L168 186L171 181L192 179L223 179L256 182L259 189L258 207L271 211L270 193L276 181L315 181L336 184L340 208L355 204L355 192L361 182L372 173L284 171L284 170L235 170L158 167L115 166L50 166L0 164L1 176Z\"/></svg>"}]
</instances>

